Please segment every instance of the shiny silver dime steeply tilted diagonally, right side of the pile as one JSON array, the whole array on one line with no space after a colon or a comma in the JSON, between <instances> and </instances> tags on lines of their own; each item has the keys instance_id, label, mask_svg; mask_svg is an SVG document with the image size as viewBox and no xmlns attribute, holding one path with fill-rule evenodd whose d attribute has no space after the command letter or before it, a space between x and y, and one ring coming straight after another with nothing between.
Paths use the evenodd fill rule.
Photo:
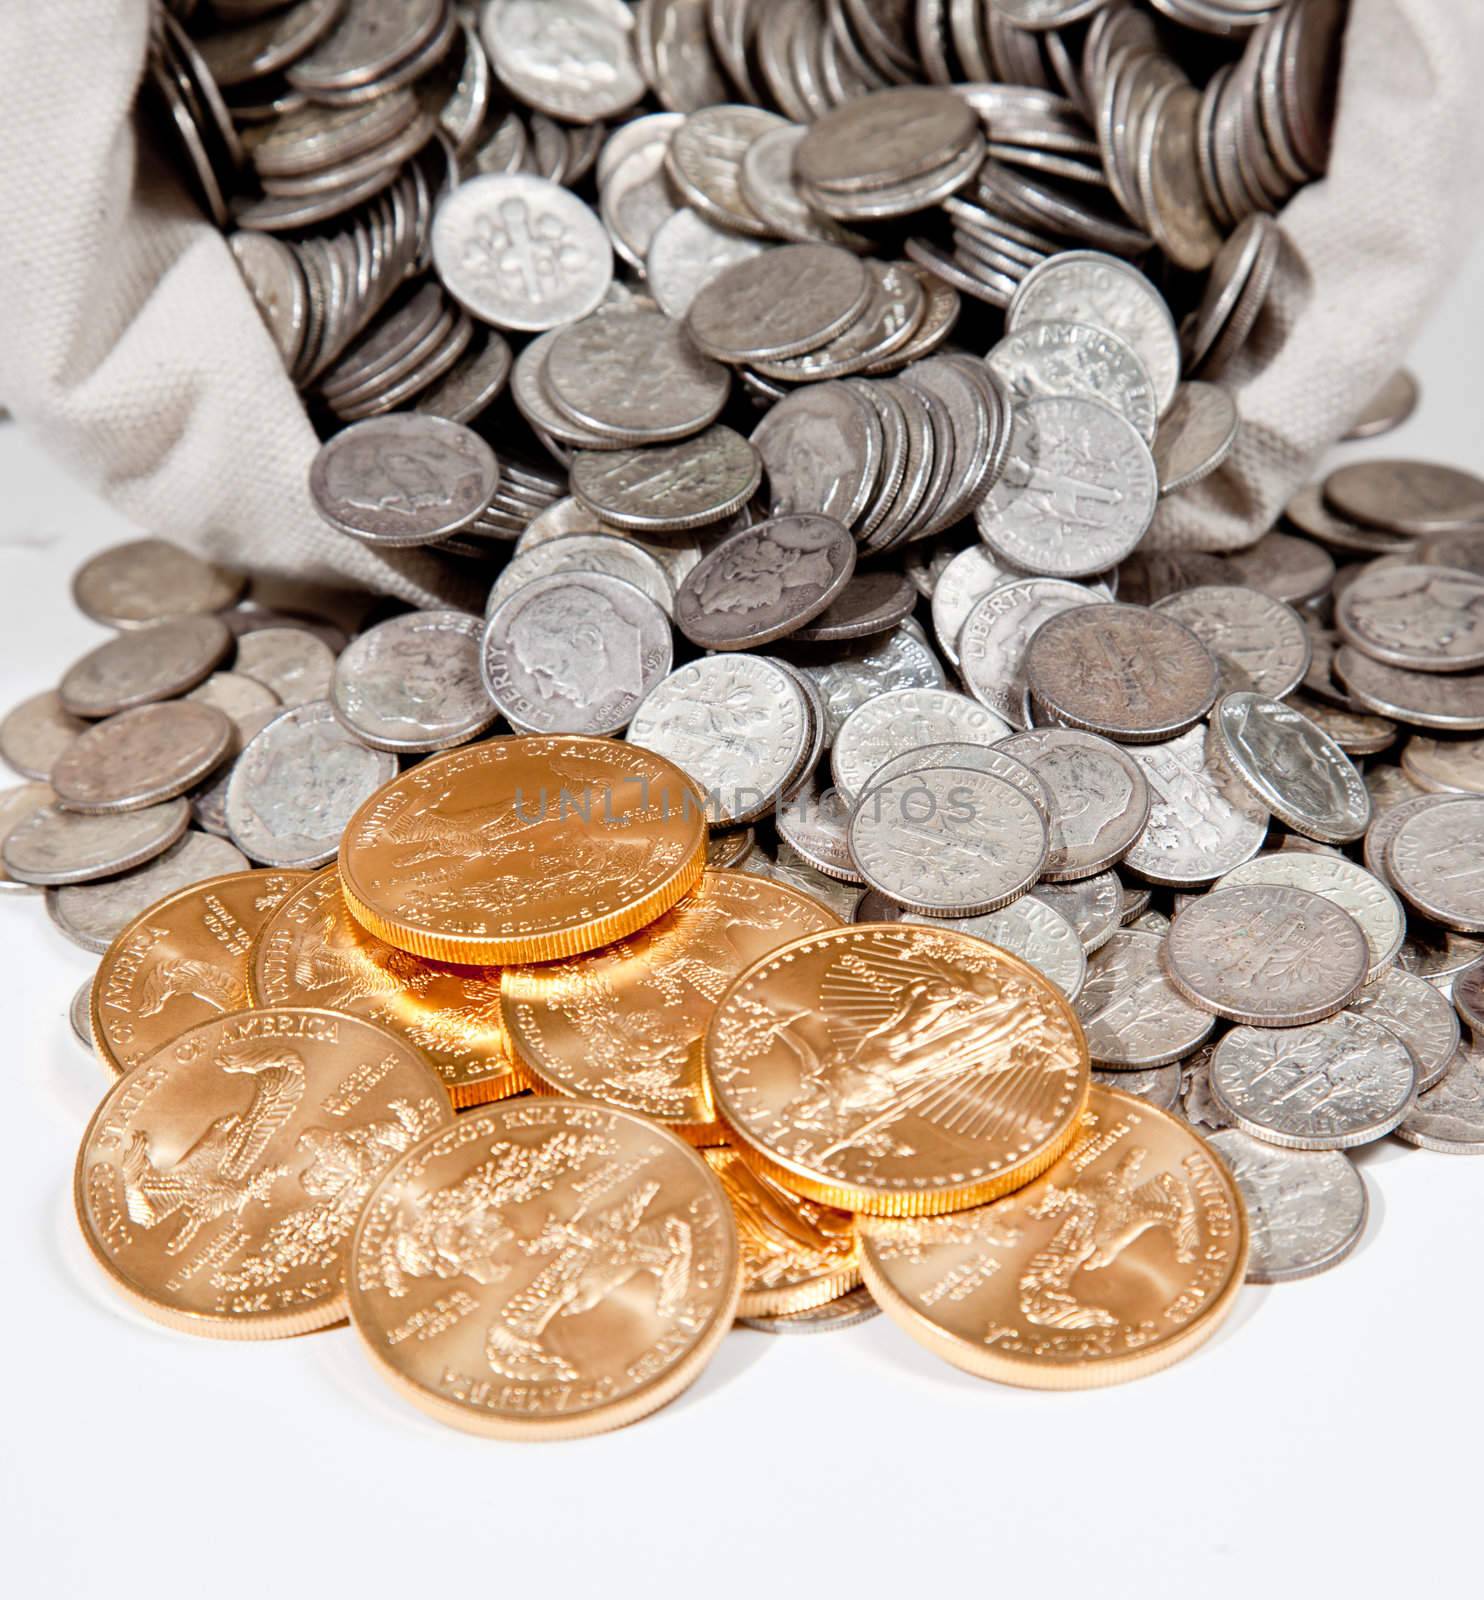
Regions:
<instances>
[{"instance_id":1,"label":"shiny silver dime steeply tilted diagonally, right side of the pile","mask_svg":"<svg viewBox=\"0 0 1484 1600\"><path fill-rule=\"evenodd\" d=\"M1225 694L1211 736L1228 768L1289 827L1330 845L1366 832L1370 795L1361 774L1302 712L1262 694Z\"/></svg>"}]
</instances>

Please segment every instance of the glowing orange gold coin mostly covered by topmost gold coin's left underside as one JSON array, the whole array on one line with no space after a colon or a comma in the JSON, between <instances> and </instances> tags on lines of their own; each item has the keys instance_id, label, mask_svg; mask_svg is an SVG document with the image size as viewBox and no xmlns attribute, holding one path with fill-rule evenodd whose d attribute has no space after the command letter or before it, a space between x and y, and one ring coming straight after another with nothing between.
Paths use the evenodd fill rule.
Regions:
<instances>
[{"instance_id":1,"label":"glowing orange gold coin mostly covered by topmost gold coin's left underside","mask_svg":"<svg viewBox=\"0 0 1484 1600\"><path fill-rule=\"evenodd\" d=\"M254 1005L363 1016L416 1045L456 1107L531 1088L501 1022L501 970L427 962L384 944L345 909L341 875L317 872L264 923L248 962Z\"/></svg>"}]
</instances>

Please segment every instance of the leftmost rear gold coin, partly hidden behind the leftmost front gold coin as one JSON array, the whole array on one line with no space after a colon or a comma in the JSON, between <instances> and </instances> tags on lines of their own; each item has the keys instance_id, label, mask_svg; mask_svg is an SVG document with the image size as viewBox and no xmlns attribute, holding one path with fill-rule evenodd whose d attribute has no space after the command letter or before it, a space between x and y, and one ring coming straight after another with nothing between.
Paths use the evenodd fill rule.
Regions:
<instances>
[{"instance_id":1,"label":"leftmost rear gold coin, partly hidden behind the leftmost front gold coin","mask_svg":"<svg viewBox=\"0 0 1484 1600\"><path fill-rule=\"evenodd\" d=\"M128 1072L197 1022L241 1011L248 952L307 872L229 872L142 910L98 963L88 1024L106 1066Z\"/></svg>"}]
</instances>

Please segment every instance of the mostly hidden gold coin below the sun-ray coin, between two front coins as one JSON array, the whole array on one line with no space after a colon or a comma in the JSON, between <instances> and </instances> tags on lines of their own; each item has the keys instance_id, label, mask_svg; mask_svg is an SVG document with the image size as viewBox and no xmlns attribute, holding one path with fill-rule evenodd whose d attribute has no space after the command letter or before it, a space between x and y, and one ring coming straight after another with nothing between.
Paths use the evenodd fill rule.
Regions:
<instances>
[{"instance_id":1,"label":"mostly hidden gold coin below the sun-ray coin, between two front coins","mask_svg":"<svg viewBox=\"0 0 1484 1600\"><path fill-rule=\"evenodd\" d=\"M812 1310L860 1282L856 1219L755 1171L736 1150L700 1152L721 1179L742 1242L739 1317Z\"/></svg>"}]
</instances>

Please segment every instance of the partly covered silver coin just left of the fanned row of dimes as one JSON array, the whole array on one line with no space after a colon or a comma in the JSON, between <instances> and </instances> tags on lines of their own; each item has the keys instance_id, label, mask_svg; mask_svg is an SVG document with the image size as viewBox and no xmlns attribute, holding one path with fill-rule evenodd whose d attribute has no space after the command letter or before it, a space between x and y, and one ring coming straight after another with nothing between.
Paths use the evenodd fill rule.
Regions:
<instances>
[{"instance_id":1,"label":"partly covered silver coin just left of the fanned row of dimes","mask_svg":"<svg viewBox=\"0 0 1484 1600\"><path fill-rule=\"evenodd\" d=\"M740 510L763 480L756 450L729 427L708 427L648 450L580 450L572 494L590 512L635 533L700 528Z\"/></svg>"}]
</instances>

